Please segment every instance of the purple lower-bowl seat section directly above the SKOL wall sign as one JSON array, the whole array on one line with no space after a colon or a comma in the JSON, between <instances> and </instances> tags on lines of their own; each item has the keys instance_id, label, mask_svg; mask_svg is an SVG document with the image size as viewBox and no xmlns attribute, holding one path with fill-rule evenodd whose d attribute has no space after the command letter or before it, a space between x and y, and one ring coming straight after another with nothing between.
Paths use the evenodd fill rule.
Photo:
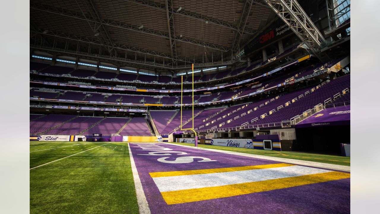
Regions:
<instances>
[{"instance_id":1,"label":"purple lower-bowl seat section directly above the SKOL wall sign","mask_svg":"<svg viewBox=\"0 0 380 214\"><path fill-rule=\"evenodd\" d=\"M103 135L111 135L117 133L130 118L112 118L107 117L96 126L90 128L84 135L90 135L93 133L101 133Z\"/></svg>"}]
</instances>

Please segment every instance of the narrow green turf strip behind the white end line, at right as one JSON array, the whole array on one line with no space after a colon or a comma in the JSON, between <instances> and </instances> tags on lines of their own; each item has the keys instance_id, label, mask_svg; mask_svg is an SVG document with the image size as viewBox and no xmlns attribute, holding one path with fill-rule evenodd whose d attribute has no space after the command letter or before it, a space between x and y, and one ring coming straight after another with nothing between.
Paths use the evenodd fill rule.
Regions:
<instances>
[{"instance_id":1,"label":"narrow green turf strip behind the white end line, at right","mask_svg":"<svg viewBox=\"0 0 380 214\"><path fill-rule=\"evenodd\" d=\"M188 143L173 143L179 145L190 145L194 146L194 144ZM323 155L323 154L315 154L315 153L306 153L306 152L286 152L286 151L273 151L273 150L261 150L261 149L247 149L247 148L236 148L236 147L225 147L225 146L217 146L217 145L204 145L198 144L198 147L208 148L208 149L219 149L231 152L241 152L248 153L254 155L265 155L271 157L281 157L281 158L291 158L296 160L307 160L314 161L319 163L331 163L338 164L343 166L350 166L350 157L343 157L337 155Z\"/></svg>"}]
</instances>

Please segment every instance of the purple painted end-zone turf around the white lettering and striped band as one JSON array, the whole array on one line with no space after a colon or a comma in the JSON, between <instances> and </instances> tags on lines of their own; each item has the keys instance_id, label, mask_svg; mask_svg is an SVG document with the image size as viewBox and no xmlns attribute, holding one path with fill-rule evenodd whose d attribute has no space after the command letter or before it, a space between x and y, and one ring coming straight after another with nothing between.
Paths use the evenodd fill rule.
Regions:
<instances>
[{"instance_id":1,"label":"purple painted end-zone turf around the white lettering and striped band","mask_svg":"<svg viewBox=\"0 0 380 214\"><path fill-rule=\"evenodd\" d=\"M141 179L152 214L233 214L233 213L349 213L350 212L350 179L332 180L316 184L288 187L265 192L250 193L225 198L188 202L168 205L163 199L150 172L168 172L196 169L229 168L237 166L253 166L263 164L282 163L278 161L242 157L226 153L192 149L156 143L165 148L173 149L169 152L186 152L188 155L138 155L148 154L149 150L142 150L139 144L130 144L136 168ZM211 160L191 163L162 163L158 158L169 157L165 160L173 161L177 157L195 156Z\"/></svg>"}]
</instances>

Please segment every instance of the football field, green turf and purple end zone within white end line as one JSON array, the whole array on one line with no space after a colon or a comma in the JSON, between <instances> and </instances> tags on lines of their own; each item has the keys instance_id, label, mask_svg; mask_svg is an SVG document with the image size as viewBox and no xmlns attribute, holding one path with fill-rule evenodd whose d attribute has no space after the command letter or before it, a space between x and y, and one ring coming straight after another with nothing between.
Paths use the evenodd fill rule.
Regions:
<instances>
[{"instance_id":1,"label":"football field, green turf and purple end zone within white end line","mask_svg":"<svg viewBox=\"0 0 380 214\"><path fill-rule=\"evenodd\" d=\"M162 142L31 141L30 212L349 213L349 171Z\"/></svg>"}]
</instances>

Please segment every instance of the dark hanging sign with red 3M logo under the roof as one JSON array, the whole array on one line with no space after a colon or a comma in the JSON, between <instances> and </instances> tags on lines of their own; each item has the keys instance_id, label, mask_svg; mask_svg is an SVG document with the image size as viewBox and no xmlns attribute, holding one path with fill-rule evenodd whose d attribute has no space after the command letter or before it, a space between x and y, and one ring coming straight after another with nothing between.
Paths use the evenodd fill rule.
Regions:
<instances>
[{"instance_id":1,"label":"dark hanging sign with red 3M logo under the roof","mask_svg":"<svg viewBox=\"0 0 380 214\"><path fill-rule=\"evenodd\" d=\"M266 30L248 43L248 45L244 46L244 53L247 55L252 51L260 50L264 46L290 35L292 32L287 24L281 19L277 19L277 21L273 22Z\"/></svg>"}]
</instances>

